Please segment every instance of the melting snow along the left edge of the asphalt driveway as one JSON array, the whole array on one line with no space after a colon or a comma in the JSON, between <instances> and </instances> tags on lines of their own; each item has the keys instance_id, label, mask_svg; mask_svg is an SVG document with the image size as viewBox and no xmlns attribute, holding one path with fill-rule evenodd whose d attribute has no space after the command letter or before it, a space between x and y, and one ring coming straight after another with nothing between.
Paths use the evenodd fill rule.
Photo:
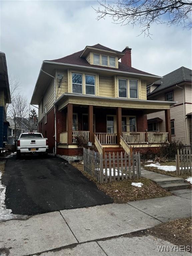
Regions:
<instances>
[{"instance_id":1,"label":"melting snow along the left edge of the asphalt driveway","mask_svg":"<svg viewBox=\"0 0 192 256\"><path fill-rule=\"evenodd\" d=\"M14 154L14 153L12 153ZM0 222L11 219L25 219L27 215L12 214L11 209L6 209L5 205L5 191L6 186L1 183L2 172L0 171Z\"/></svg>"}]
</instances>

